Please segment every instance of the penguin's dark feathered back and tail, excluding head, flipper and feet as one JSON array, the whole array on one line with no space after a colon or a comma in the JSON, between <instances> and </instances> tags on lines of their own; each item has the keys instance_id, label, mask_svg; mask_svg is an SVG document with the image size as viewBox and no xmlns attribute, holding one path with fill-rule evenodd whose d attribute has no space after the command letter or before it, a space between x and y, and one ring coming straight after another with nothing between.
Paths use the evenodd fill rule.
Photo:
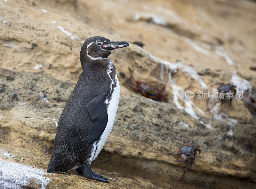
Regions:
<instances>
[{"instance_id":1,"label":"penguin's dark feathered back and tail, excluding head, flipper and feet","mask_svg":"<svg viewBox=\"0 0 256 189\"><path fill-rule=\"evenodd\" d=\"M86 104L99 93L109 93L111 81L106 64L107 59L97 65L85 64L60 116L47 172L66 172L88 160L93 144L85 141L92 126Z\"/></svg>"}]
</instances>

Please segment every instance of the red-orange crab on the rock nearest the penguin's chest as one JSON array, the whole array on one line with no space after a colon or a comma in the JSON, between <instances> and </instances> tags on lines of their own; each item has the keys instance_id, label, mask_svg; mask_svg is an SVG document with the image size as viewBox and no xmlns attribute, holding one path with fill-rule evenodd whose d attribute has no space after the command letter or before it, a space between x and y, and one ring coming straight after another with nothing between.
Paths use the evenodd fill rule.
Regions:
<instances>
[{"instance_id":1,"label":"red-orange crab on the rock nearest the penguin's chest","mask_svg":"<svg viewBox=\"0 0 256 189\"><path fill-rule=\"evenodd\" d=\"M131 75L132 79L128 79L130 87L133 91L140 92L143 96L151 98L153 100L165 100L167 101L166 97L167 94L162 94L165 89L165 86L162 89L159 89L149 83L136 81L133 76ZM131 86L132 85L132 86Z\"/></svg>"}]
</instances>

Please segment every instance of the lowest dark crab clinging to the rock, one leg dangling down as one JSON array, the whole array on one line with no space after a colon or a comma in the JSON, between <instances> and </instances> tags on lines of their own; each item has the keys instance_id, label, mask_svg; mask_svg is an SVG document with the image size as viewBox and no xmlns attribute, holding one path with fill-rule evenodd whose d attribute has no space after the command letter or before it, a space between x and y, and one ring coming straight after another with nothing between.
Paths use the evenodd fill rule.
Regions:
<instances>
[{"instance_id":1,"label":"lowest dark crab clinging to the rock, one leg dangling down","mask_svg":"<svg viewBox=\"0 0 256 189\"><path fill-rule=\"evenodd\" d=\"M201 154L201 150L199 149L200 146L195 141L189 139L185 135L181 135L180 137L186 138L188 140L188 143L186 144L185 140L183 140L183 139L173 138L175 140L181 141L181 148L177 154L172 154L172 153L168 153L168 154L175 155L175 156L181 156L182 160L175 160L175 161L184 161L185 164L187 165L187 168L185 169L183 176L182 176L182 179L183 179L185 172L188 170L188 167L190 164L189 159L191 159L191 164L190 164L190 166L191 166L196 159L197 151L199 152L199 154ZM195 146L190 146L193 144Z\"/></svg>"}]
</instances>

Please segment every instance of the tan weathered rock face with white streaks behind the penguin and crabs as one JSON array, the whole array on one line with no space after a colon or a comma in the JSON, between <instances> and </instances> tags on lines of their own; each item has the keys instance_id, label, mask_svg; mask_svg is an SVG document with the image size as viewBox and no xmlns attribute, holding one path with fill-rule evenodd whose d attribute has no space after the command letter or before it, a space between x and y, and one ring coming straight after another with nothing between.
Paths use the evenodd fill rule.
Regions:
<instances>
[{"instance_id":1,"label":"tan weathered rock face with white streaks behind the penguin and crabs","mask_svg":"<svg viewBox=\"0 0 256 189\"><path fill-rule=\"evenodd\" d=\"M0 153L0 161L8 156L6 161L47 168L56 123L82 71L81 44L101 35L130 43L110 56L121 96L112 132L92 164L110 184L73 171L45 175L51 179L46 188L256 186L256 139L245 132L256 127L244 102L235 99L209 112L213 100L184 98L186 89L212 90L217 82L256 87L256 72L249 69L256 61L255 3L33 2L0 4L0 149L12 155ZM145 43L145 50L133 41ZM168 103L131 91L119 74L129 77L129 70L137 80L166 85ZM185 164L168 155L179 150L172 138L181 134L202 149L183 180ZM42 187L33 180L29 185Z\"/></svg>"}]
</instances>

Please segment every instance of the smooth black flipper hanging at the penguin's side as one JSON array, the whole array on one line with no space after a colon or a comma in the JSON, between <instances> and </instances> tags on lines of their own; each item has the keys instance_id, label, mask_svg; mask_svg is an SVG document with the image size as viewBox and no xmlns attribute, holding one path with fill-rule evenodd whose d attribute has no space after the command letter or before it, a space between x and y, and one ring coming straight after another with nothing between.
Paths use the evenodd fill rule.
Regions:
<instances>
[{"instance_id":1,"label":"smooth black flipper hanging at the penguin's side","mask_svg":"<svg viewBox=\"0 0 256 189\"><path fill-rule=\"evenodd\" d=\"M92 117L92 126L85 140L87 144L98 140L107 126L108 113L104 103L105 95L101 93L86 104L86 109Z\"/></svg>"}]
</instances>

